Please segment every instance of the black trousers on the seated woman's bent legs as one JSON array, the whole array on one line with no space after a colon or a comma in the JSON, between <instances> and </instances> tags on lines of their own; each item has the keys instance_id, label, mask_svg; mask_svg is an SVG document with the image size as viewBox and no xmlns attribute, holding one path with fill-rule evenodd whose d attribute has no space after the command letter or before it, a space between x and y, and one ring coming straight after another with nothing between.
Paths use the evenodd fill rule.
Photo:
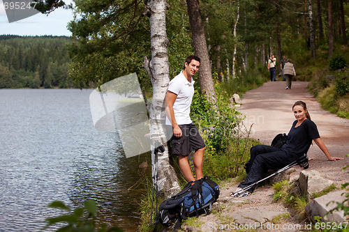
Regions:
<instances>
[{"instance_id":1,"label":"black trousers on the seated woman's bent legs","mask_svg":"<svg viewBox=\"0 0 349 232\"><path fill-rule=\"evenodd\" d=\"M268 169L281 169L297 160L298 157L287 155L274 146L256 145L251 148L251 158L246 163L247 177L239 187L247 187L265 177ZM255 186L251 188L253 191Z\"/></svg>"}]
</instances>

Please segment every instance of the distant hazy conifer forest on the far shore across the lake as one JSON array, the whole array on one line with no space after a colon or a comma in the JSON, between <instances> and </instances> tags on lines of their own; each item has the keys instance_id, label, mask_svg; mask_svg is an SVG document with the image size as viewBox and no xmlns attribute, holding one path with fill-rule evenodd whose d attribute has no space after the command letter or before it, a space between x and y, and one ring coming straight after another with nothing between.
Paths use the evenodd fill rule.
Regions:
<instances>
[{"instance_id":1,"label":"distant hazy conifer forest on the far shore across the lake","mask_svg":"<svg viewBox=\"0 0 349 232\"><path fill-rule=\"evenodd\" d=\"M0 36L0 88L72 88L65 36Z\"/></svg>"}]
</instances>

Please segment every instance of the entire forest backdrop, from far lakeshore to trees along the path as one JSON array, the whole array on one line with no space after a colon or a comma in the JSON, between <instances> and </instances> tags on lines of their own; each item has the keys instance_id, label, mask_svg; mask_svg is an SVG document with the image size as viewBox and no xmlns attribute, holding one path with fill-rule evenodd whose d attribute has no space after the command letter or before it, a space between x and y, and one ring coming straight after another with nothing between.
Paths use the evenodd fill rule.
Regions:
<instances>
[{"instance_id":1,"label":"entire forest backdrop, from far lakeshore to trees along the path","mask_svg":"<svg viewBox=\"0 0 349 232\"><path fill-rule=\"evenodd\" d=\"M187 2L167 1L170 77L194 52ZM41 10L50 12L50 3ZM0 88L84 88L137 72L151 92L143 68L151 52L145 8L143 1L75 1L80 17L68 25L72 38L0 36ZM217 82L265 70L271 54L278 65L285 55L299 66L341 55L348 44L346 0L202 0L199 10Z\"/></svg>"}]
</instances>

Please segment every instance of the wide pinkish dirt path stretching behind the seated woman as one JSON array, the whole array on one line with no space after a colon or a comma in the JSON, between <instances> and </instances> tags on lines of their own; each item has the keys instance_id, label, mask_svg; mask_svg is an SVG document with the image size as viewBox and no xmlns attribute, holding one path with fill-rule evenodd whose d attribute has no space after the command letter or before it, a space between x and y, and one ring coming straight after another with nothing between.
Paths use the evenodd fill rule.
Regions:
<instances>
[{"instance_id":1,"label":"wide pinkish dirt path stretching behind the seated woman","mask_svg":"<svg viewBox=\"0 0 349 232\"><path fill-rule=\"evenodd\" d=\"M276 134L290 130L295 117L292 105L297 100L306 102L311 120L316 123L322 141L332 156L346 157L349 153L349 120L339 118L321 109L320 103L306 88L308 82L293 82L292 89L285 90L285 82L267 82L262 87L248 91L242 98L242 107L237 109L246 116L244 125L252 123L251 137L270 144ZM334 180L336 185L349 181L348 174L341 171L349 164L349 158L329 162L320 148L313 143L309 149L310 168Z\"/></svg>"}]
</instances>

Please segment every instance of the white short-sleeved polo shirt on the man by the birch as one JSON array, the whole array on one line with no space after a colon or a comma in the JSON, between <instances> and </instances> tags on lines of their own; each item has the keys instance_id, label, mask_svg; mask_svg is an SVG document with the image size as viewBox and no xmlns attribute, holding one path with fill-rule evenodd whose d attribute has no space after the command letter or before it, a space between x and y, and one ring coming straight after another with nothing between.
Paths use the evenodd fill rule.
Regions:
<instances>
[{"instance_id":1,"label":"white short-sleeved polo shirt on the man by the birch","mask_svg":"<svg viewBox=\"0 0 349 232\"><path fill-rule=\"evenodd\" d=\"M173 104L174 118L178 125L191 124L191 100L194 95L194 80L191 83L184 77L183 71L174 77L168 85L168 91L177 95ZM166 116L166 125L172 125Z\"/></svg>"}]
</instances>

